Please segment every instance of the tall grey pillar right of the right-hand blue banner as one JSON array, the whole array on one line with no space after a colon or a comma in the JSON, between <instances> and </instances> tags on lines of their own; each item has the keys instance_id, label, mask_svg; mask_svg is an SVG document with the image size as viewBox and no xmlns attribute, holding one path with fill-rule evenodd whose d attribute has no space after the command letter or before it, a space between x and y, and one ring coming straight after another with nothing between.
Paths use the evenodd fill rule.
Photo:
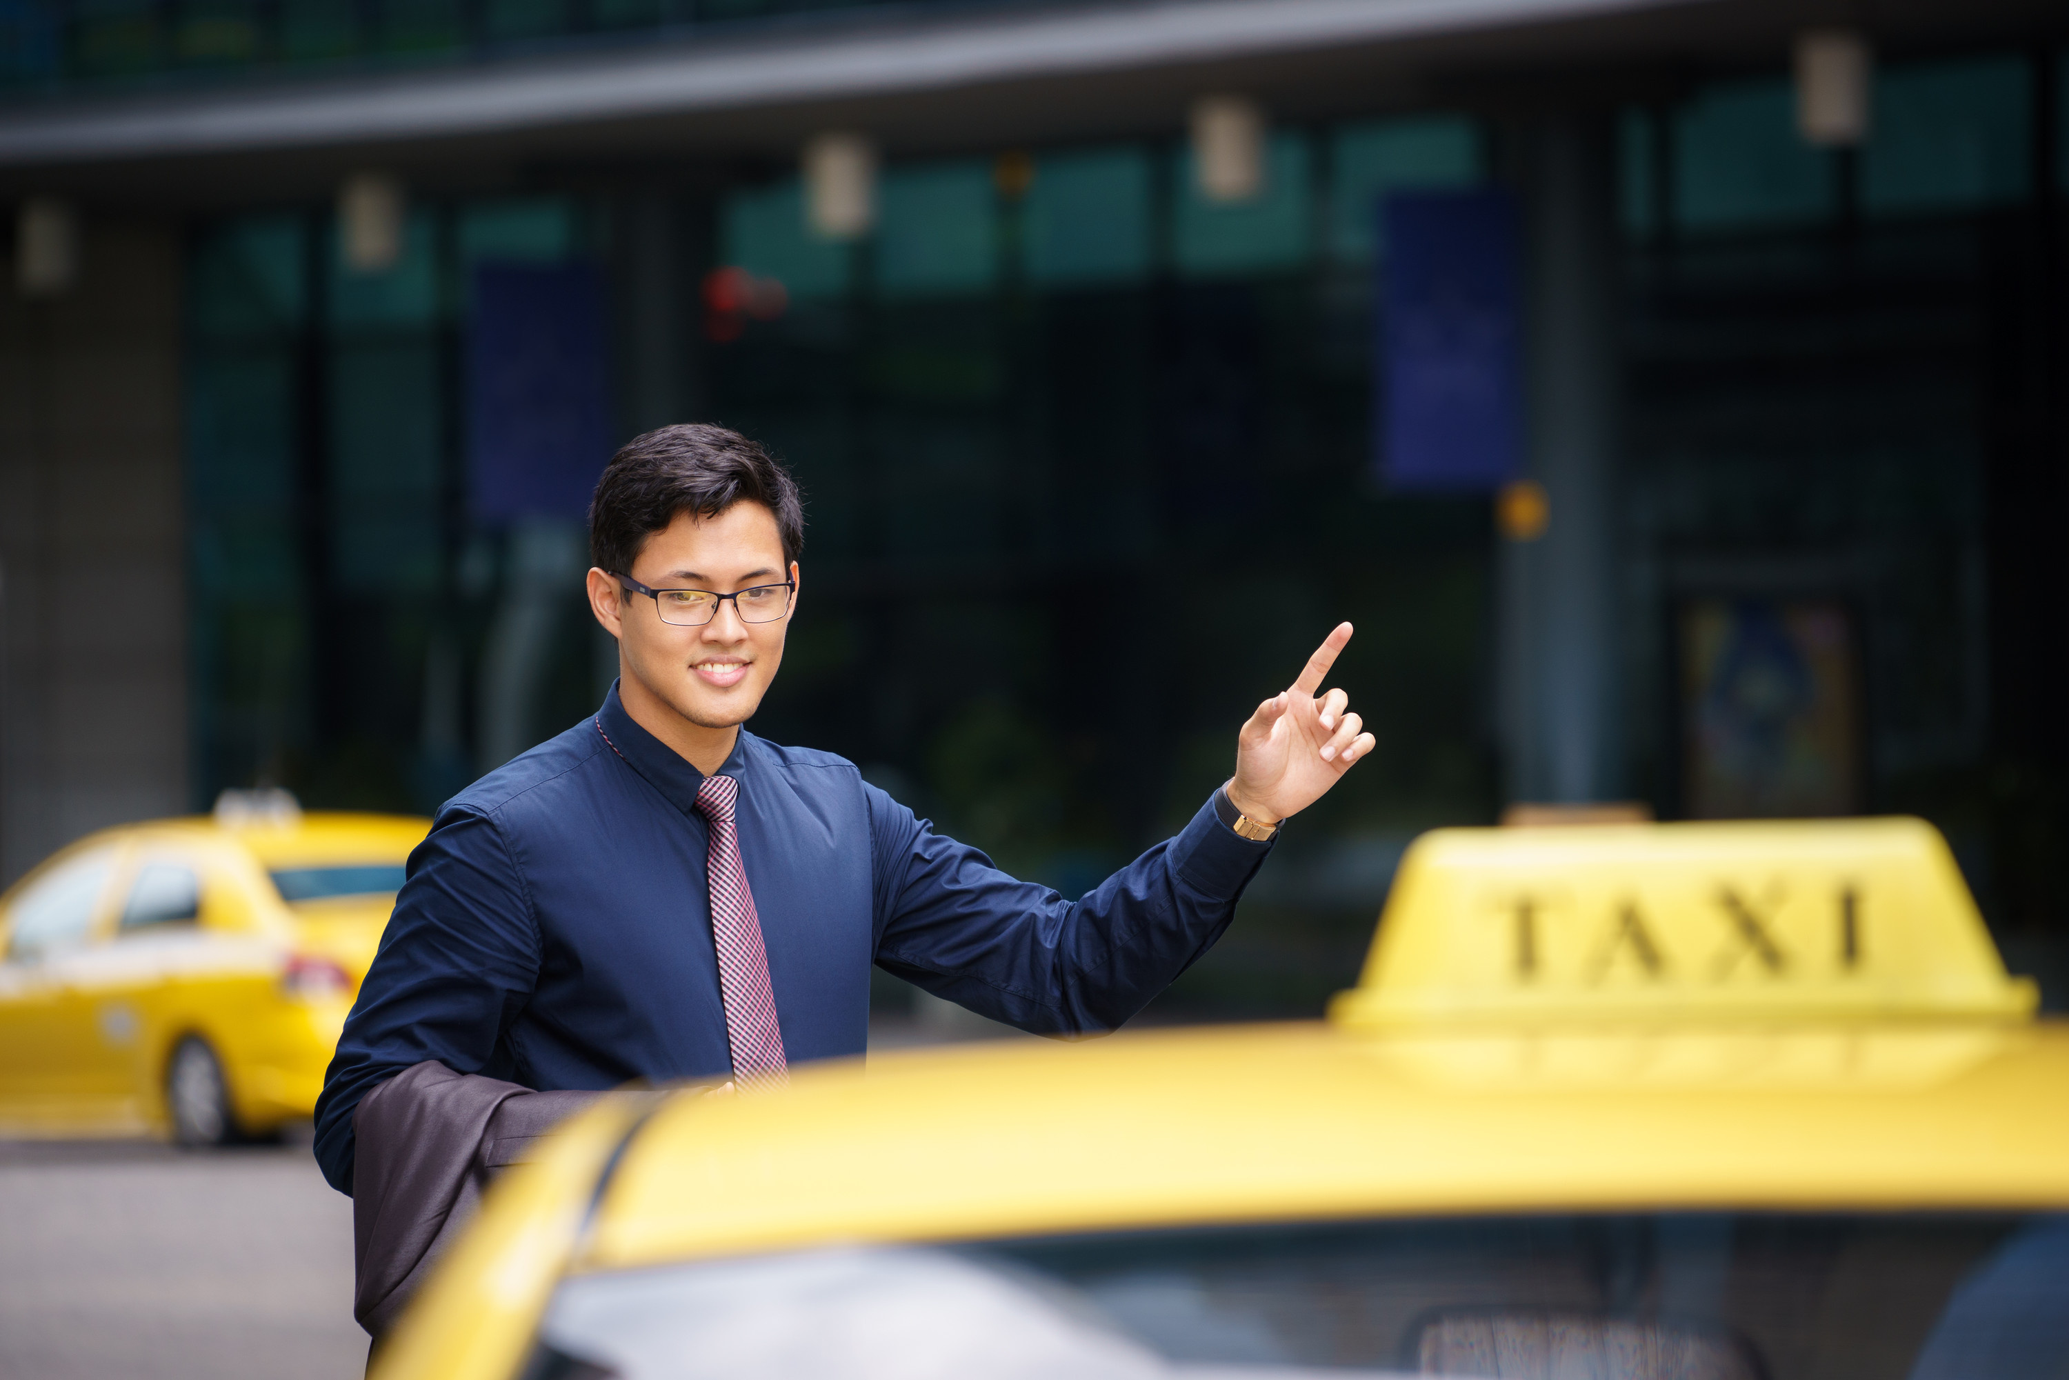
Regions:
<instances>
[{"instance_id":1,"label":"tall grey pillar right of the right-hand blue banner","mask_svg":"<svg viewBox=\"0 0 2069 1380\"><path fill-rule=\"evenodd\" d=\"M1502 548L1500 710L1508 799L1624 792L1616 600L1618 273L1614 126L1554 116L1519 147L1529 472L1543 536Z\"/></svg>"}]
</instances>

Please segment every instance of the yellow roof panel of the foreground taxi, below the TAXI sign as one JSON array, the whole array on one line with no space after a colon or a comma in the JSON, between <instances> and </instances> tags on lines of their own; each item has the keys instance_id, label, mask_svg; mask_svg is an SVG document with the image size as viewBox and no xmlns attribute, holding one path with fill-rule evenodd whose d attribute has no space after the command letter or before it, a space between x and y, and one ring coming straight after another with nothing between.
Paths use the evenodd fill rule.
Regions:
<instances>
[{"instance_id":1,"label":"yellow roof panel of the foreground taxi, below the TAXI sign","mask_svg":"<svg viewBox=\"0 0 2069 1380\"><path fill-rule=\"evenodd\" d=\"M668 1101L579 1266L1359 1214L2069 1206L2063 1088L2052 1024L970 1047Z\"/></svg>"}]
</instances>

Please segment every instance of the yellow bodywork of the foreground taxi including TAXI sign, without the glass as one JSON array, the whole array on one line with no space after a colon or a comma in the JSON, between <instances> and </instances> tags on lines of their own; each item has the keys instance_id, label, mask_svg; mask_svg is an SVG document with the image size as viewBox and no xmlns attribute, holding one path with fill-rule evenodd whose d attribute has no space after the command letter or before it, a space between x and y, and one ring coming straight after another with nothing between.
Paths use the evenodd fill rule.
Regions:
<instances>
[{"instance_id":1,"label":"yellow bodywork of the foreground taxi including TAXI sign, without the glass","mask_svg":"<svg viewBox=\"0 0 2069 1380\"><path fill-rule=\"evenodd\" d=\"M2032 1018L1930 826L1423 842L1328 1022L904 1051L579 1117L490 1190L374 1374L515 1374L557 1279L832 1246L2069 1208L2069 1024ZM1626 910L1659 962L1616 954Z\"/></svg>"}]
</instances>

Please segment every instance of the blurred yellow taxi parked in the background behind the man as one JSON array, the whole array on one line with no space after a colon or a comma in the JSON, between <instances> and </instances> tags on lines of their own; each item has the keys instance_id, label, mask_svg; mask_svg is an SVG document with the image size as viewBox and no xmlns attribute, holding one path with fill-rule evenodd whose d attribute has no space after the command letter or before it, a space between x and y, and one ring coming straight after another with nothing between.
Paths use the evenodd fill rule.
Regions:
<instances>
[{"instance_id":1,"label":"blurred yellow taxi parked in the background behind the man","mask_svg":"<svg viewBox=\"0 0 2069 1380\"><path fill-rule=\"evenodd\" d=\"M0 896L0 1134L221 1144L306 1119L428 832L236 792L41 863Z\"/></svg>"}]
</instances>

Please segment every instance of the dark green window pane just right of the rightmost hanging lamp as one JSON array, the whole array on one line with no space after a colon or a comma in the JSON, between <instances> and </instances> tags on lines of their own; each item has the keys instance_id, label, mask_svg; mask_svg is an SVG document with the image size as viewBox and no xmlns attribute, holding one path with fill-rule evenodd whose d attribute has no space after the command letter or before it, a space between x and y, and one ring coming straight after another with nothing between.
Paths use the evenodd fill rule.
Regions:
<instances>
[{"instance_id":1,"label":"dark green window pane just right of the rightmost hanging lamp","mask_svg":"<svg viewBox=\"0 0 2069 1380\"><path fill-rule=\"evenodd\" d=\"M1860 151L1870 213L2023 201L2032 184L2032 74L2019 58L1897 68L1877 77Z\"/></svg>"}]
</instances>

